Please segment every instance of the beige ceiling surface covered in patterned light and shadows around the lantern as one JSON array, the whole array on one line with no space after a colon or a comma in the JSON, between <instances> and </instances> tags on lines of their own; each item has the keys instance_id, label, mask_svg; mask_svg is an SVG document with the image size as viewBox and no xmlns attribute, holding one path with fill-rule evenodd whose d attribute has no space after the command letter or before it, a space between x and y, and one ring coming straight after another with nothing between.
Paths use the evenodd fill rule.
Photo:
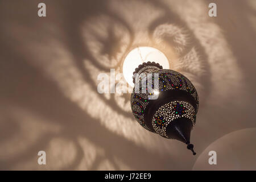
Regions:
<instances>
[{"instance_id":1,"label":"beige ceiling surface covered in patterned light and shadows around the lantern","mask_svg":"<svg viewBox=\"0 0 256 182\"><path fill-rule=\"evenodd\" d=\"M0 1L0 169L255 170L255 1ZM159 49L199 93L197 155L97 92L129 51ZM38 151L47 164L39 165ZM209 165L209 151L217 165Z\"/></svg>"}]
</instances>

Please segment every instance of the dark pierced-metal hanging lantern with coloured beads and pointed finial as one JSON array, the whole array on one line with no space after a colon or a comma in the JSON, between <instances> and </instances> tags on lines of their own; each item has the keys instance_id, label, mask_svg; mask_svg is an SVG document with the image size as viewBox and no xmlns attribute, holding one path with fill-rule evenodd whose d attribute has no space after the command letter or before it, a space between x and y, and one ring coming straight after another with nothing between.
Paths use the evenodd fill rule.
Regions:
<instances>
[{"instance_id":1,"label":"dark pierced-metal hanging lantern with coloured beads and pointed finial","mask_svg":"<svg viewBox=\"0 0 256 182\"><path fill-rule=\"evenodd\" d=\"M135 69L134 84L131 109L138 123L162 137L184 142L195 155L190 134L199 97L191 81L179 72L147 62ZM146 90L143 85L147 85Z\"/></svg>"}]
</instances>

